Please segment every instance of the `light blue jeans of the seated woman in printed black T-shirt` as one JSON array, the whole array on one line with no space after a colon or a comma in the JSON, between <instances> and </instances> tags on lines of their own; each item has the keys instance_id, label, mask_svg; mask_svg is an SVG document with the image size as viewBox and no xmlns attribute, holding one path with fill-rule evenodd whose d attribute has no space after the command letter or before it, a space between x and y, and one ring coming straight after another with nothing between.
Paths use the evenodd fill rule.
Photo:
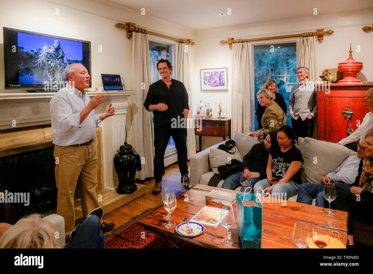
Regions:
<instances>
[{"instance_id":1,"label":"light blue jeans of the seated woman in printed black T-shirt","mask_svg":"<svg viewBox=\"0 0 373 274\"><path fill-rule=\"evenodd\" d=\"M268 183L267 179L260 180L254 186L254 194L258 192L259 188L264 190L269 186L271 185ZM271 192L271 197L287 200L290 197L297 195L298 189L299 185L293 181L289 181L288 183L283 183L279 185L274 185Z\"/></svg>"}]
</instances>

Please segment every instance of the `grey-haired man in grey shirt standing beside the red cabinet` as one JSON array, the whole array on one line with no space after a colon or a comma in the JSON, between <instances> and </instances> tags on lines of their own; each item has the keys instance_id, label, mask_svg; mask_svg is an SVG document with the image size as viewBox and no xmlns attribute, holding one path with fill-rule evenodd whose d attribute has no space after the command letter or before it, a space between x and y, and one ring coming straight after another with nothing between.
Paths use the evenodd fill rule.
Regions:
<instances>
[{"instance_id":1,"label":"grey-haired man in grey shirt standing beside the red cabinet","mask_svg":"<svg viewBox=\"0 0 373 274\"><path fill-rule=\"evenodd\" d=\"M289 97L289 115L297 139L312 137L317 113L316 92L313 85L308 85L309 74L308 67L297 68L299 84L292 87Z\"/></svg>"}]
</instances>

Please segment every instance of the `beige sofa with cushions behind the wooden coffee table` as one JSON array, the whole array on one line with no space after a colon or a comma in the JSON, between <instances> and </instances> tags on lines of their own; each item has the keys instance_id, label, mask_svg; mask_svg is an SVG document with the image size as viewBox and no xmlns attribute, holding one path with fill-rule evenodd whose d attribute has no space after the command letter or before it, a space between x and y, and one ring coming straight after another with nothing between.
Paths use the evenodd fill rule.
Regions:
<instances>
[{"instance_id":1,"label":"beige sofa with cushions behind the wooden coffee table","mask_svg":"<svg viewBox=\"0 0 373 274\"><path fill-rule=\"evenodd\" d=\"M256 138L252 138L240 132L234 133L233 140L236 142L236 147L241 154L241 157L247 154L254 144L258 143ZM219 144L224 143L225 141ZM207 185L209 183L210 178L214 175L211 167L216 166L216 163L210 162L210 154L216 153L216 151L211 153L211 149L216 149L219 144L198 152L191 157L190 173L193 185L198 183ZM302 167L304 168L305 176L303 176L303 180L315 183L319 183L322 177L335 170L348 156L356 155L356 152L344 146L308 137L304 139L299 138L298 148L302 152L304 159ZM230 155L228 153L226 154L227 155L221 154L221 158L226 160L226 157L229 157ZM216 159L213 159L213 162L216 162ZM221 187L223 182L224 180L221 180L217 187ZM236 190L239 191L240 188L241 187ZM298 195L289 198L289 201L296 201L297 196ZM315 199L313 200L313 205L314 201ZM355 242L373 246L372 226L354 220L354 232Z\"/></svg>"}]
</instances>

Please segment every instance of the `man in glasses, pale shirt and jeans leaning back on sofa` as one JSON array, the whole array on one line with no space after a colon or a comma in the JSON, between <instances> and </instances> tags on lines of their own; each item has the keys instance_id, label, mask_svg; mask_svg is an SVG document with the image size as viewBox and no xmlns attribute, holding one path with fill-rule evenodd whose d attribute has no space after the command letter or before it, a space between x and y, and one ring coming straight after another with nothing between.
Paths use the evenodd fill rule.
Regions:
<instances>
[{"instance_id":1,"label":"man in glasses, pale shirt and jeans leaning back on sofa","mask_svg":"<svg viewBox=\"0 0 373 274\"><path fill-rule=\"evenodd\" d=\"M357 148L357 155L348 156L343 163L333 172L321 178L321 183L301 184L298 191L297 202L310 205L312 199L316 198L316 207L324 207L324 185L332 183L336 189L350 191L358 174L358 167L362 158L365 157L365 140L361 141Z\"/></svg>"}]
</instances>

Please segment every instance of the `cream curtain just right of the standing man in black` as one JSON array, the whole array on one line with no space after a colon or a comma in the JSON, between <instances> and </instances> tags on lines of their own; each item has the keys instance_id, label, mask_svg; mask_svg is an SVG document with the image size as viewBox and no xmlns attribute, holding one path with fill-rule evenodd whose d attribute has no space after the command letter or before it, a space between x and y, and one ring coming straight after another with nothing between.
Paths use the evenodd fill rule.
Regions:
<instances>
[{"instance_id":1,"label":"cream curtain just right of the standing man in black","mask_svg":"<svg viewBox=\"0 0 373 274\"><path fill-rule=\"evenodd\" d=\"M186 47L185 47L186 46ZM192 91L191 91L191 82L189 74L189 46L187 44L179 43L178 51L178 61L177 61L177 75L176 80L183 82L186 91L188 92L188 101L189 101L189 113L188 118L193 119L193 101L192 101ZM187 123L191 125L191 123ZM195 135L194 128L187 128L186 135L186 148L188 149L188 159L195 154Z\"/></svg>"}]
</instances>

